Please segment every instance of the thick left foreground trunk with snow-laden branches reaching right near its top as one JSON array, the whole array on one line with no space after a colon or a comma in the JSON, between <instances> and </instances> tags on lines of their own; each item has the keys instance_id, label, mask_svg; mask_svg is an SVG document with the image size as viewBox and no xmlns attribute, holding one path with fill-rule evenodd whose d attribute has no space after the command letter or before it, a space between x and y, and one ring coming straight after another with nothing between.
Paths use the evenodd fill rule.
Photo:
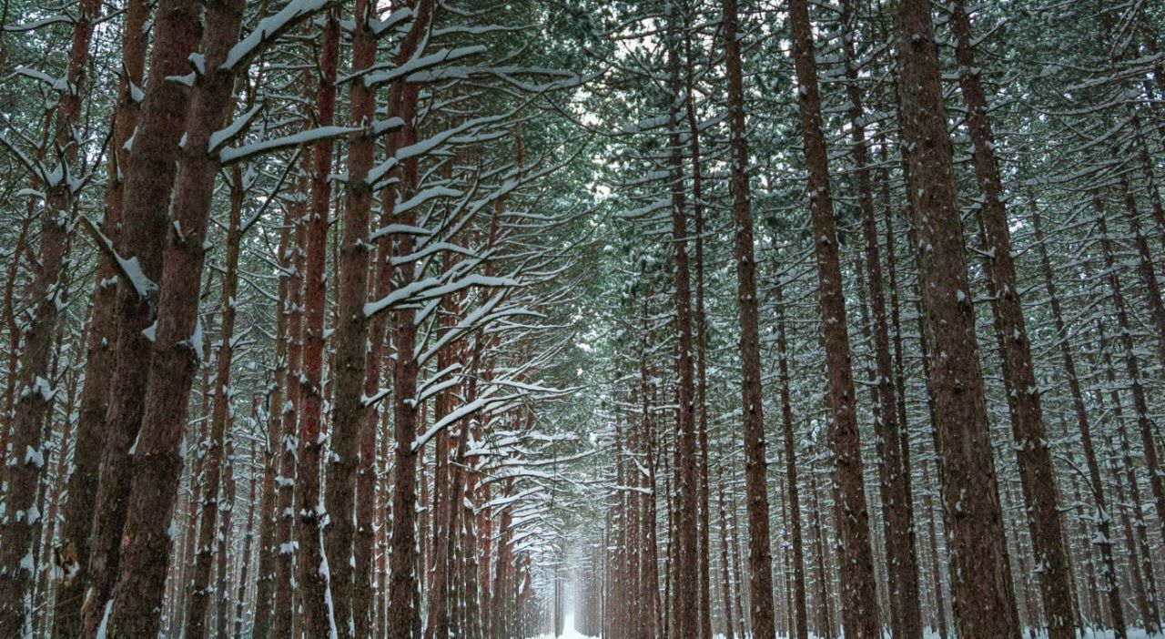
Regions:
<instances>
[{"instance_id":1,"label":"thick left foreground trunk with snow-laden branches reaching right near its top","mask_svg":"<svg viewBox=\"0 0 1165 639\"><path fill-rule=\"evenodd\" d=\"M158 630L156 610L165 591L165 566L172 542L168 527L183 464L179 447L190 388L203 359L198 301L219 169L217 154L210 153L210 138L224 126L233 105L230 98L234 72L221 65L239 40L243 5L245 0L210 2L204 16L206 31L200 50L207 71L196 80L191 92L172 229L167 234L149 386L134 454L120 576L110 615L113 637L154 637Z\"/></svg>"}]
</instances>

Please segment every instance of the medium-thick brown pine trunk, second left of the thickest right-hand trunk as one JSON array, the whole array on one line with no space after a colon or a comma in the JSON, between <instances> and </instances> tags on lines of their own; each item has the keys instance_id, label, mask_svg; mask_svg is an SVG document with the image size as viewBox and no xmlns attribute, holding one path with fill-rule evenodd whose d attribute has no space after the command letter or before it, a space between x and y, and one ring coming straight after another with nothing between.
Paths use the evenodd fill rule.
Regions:
<instances>
[{"instance_id":1,"label":"medium-thick brown pine trunk, second left of the thickest right-hand trunk","mask_svg":"<svg viewBox=\"0 0 1165 639\"><path fill-rule=\"evenodd\" d=\"M813 246L825 335L828 396L836 449L836 486L839 536L841 538L842 619L846 634L877 637L882 624L874 580L874 555L870 549L869 512L866 507L866 483L857 433L856 396L849 361L849 332L846 325L846 301L841 287L841 262L838 248L836 219L829 195L828 154L821 133L821 98L818 90L813 30L805 0L790 1L793 34L793 62L797 68L802 135L809 166L809 192L812 208ZM897 442L895 442L897 443ZM895 463L901 463L895 461ZM905 527L903 528L905 531Z\"/></svg>"}]
</instances>

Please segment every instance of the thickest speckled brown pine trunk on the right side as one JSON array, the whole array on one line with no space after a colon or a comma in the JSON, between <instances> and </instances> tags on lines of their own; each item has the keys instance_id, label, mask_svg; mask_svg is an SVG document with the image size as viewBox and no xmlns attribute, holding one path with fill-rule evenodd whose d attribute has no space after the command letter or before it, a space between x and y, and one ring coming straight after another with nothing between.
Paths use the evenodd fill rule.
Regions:
<instances>
[{"instance_id":1,"label":"thickest speckled brown pine trunk on the right side","mask_svg":"<svg viewBox=\"0 0 1165 639\"><path fill-rule=\"evenodd\" d=\"M930 2L902 0L896 24L908 192L919 240L923 324L942 461L944 513L951 533L955 626L966 639L1015 639L1019 620L991 458Z\"/></svg>"}]
</instances>

